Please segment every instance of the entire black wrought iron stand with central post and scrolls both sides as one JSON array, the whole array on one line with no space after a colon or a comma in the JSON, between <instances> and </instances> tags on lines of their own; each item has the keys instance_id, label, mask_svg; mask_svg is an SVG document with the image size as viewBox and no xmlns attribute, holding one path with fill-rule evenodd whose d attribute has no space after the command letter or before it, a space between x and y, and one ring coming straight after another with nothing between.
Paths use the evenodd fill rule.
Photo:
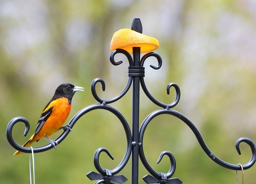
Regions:
<instances>
[{"instance_id":1,"label":"entire black wrought iron stand with central post and scrolls both sides","mask_svg":"<svg viewBox=\"0 0 256 184\"><path fill-rule=\"evenodd\" d=\"M142 33L142 24L141 24L139 18L133 19L132 30ZM162 66L162 59L161 59L160 55L158 55L154 52L150 52L150 53L145 54L140 59L140 48L134 47L133 48L133 58L132 58L132 56L125 50L116 49L110 54L110 62L113 65L119 65L119 64L123 63L122 61L116 62L114 60L114 56L117 53L124 54L127 57L128 62L129 62L129 67L128 67L128 77L129 78L128 78L128 82L127 82L124 90L112 99L101 99L96 92L95 86L97 83L101 83L102 90L105 91L105 83L100 78L94 79L92 81L91 91L92 91L93 97L99 102L99 104L93 104L91 106L85 107L84 109L80 110L68 123L68 125L72 129L73 126L75 125L76 121L78 121L79 118L82 117L84 114L86 114L92 110L95 110L95 109L104 109L104 110L107 110L107 111L113 113L114 115L116 115L116 117L120 120L120 122L122 123L122 125L124 127L126 139L127 139L127 148L126 148L126 152L125 152L123 160L113 170L104 169L100 166L100 163L99 163L100 153L103 151L103 152L107 153L111 159L114 159L114 158L112 157L112 155L106 148L99 148L94 154L94 166L99 173L95 173L95 172L88 173L87 177L90 180L97 180L95 182L95 184L99 184L99 183L115 184L115 182L124 183L125 181L127 181L127 178L125 178L123 175L116 175L116 174L119 173L124 168L124 166L126 166L130 156L132 155L132 173L131 173L131 183L132 184L138 184L139 157L140 157L140 160L141 160L142 164L144 165L144 167L151 174L151 175L147 175L147 176L143 177L143 180L146 183L181 184L182 181L180 181L178 178L171 178L176 169L176 161L171 152L163 151L160 154L160 157L157 161L157 163L159 163L162 160L164 155L166 155L170 158L171 166L170 166L170 170L168 171L168 173L156 172L148 164L148 161L144 155L143 136L144 136L145 129L147 128L149 122L152 119L154 119L156 116L161 115L161 114L172 115L176 118L179 118L184 123L186 123L188 125L188 127L195 134L200 146L202 147L202 149L204 150L206 155L209 158L211 158L215 163L219 164L222 167L228 168L228 169L241 170L240 166L229 164L227 162L222 161L218 157L216 157L204 143L204 140L203 140L201 134L199 133L198 129L195 127L195 125L186 116L171 109L172 107L175 107L180 100L180 88L177 84L170 83L167 85L167 94L169 94L171 87L174 87L175 91L176 91L176 98L171 104L164 104L164 103L156 100L148 92L148 89L144 82L145 68L143 67L143 65L144 65L145 60L148 57L153 56L153 57L156 57L156 59L158 61L158 65L157 66L150 65L150 67L152 67L155 70L158 70ZM126 92L130 89L131 85L132 85L132 131L131 131L126 119L124 118L124 116L116 108L108 105L108 104L111 104L111 103L119 100L120 98L122 98L126 94ZM141 88L143 89L144 93L147 95L147 97L153 103L155 103L157 106L159 106L161 108L150 113L146 117L146 119L142 122L141 127L139 128L140 85L141 85ZM31 153L30 148L24 148L24 147L18 145L17 143L15 143L15 141L12 138L12 128L17 122L23 122L25 124L26 129L24 132L24 136L27 135L28 130L29 130L28 121L23 117L16 117L16 118L12 119L7 126L7 129L6 129L7 140L14 149L16 149L18 151L25 152L25 153ZM58 144L60 144L68 136L69 132L70 132L69 129L64 130L63 133L55 141ZM237 150L238 154L241 154L240 149L239 149L239 145L241 142L245 142L246 144L248 144L252 150L252 157L251 157L250 161L247 164L242 165L243 169L245 170L245 169L249 169L250 167L252 167L256 161L256 147L255 147L255 144L250 139L240 138L236 141L236 150ZM38 153L38 152L43 152L43 151L47 151L50 149L52 149L52 144L48 144L43 147L33 148L33 151L34 151L34 153Z\"/></svg>"}]
</instances>

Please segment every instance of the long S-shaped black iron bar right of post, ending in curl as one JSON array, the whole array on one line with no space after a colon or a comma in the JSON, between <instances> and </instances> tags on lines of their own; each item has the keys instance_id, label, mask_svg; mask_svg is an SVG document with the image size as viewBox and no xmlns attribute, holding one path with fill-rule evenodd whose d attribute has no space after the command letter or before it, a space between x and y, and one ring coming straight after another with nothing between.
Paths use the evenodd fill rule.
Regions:
<instances>
[{"instance_id":1,"label":"long S-shaped black iron bar right of post, ending in curl","mask_svg":"<svg viewBox=\"0 0 256 184\"><path fill-rule=\"evenodd\" d=\"M172 116L175 116L177 118L179 118L181 121L183 121L184 123L186 123L188 125L188 127L193 131L193 133L195 134L198 143L200 144L200 146L202 147L202 149L204 150L204 152L206 153L206 155L211 158L215 163L217 163L218 165L225 167L227 169L231 169L231 170L241 170L241 167L238 165L234 165L234 164L229 164L227 162L222 161L220 158L216 157L207 147L207 145L205 144L201 134L199 133L198 129L196 128L196 126L183 114L180 114L177 111L174 111L172 109L159 109L156 110L154 112L152 112L151 114L149 114L146 119L142 122L142 125L140 127L140 132L139 132L139 141L140 144L143 145L143 136L145 133L145 129L148 125L148 123L155 118L156 116L160 115L160 114L170 114ZM240 149L239 149L239 144L241 142L245 142L246 144L248 144L251 147L252 150L252 157L250 159L250 161L247 164L242 165L244 170L245 169L249 169L250 167L252 167L255 162L256 162L256 147L255 144L248 138L240 138L236 141L236 150L238 152L238 154L241 154ZM149 173L151 173L153 176L158 176L158 173L156 173L156 171L154 171L148 164L144 152L143 152L143 146L140 147L139 149L139 153L140 153L140 159L144 165L144 167L148 170ZM159 176L158 176L159 177Z\"/></svg>"}]
</instances>

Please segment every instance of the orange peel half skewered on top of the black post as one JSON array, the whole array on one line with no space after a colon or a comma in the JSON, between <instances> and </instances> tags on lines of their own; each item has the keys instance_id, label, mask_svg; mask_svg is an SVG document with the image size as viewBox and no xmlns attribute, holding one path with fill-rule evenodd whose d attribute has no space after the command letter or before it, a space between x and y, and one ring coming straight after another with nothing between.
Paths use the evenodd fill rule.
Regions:
<instances>
[{"instance_id":1,"label":"orange peel half skewered on top of the black post","mask_svg":"<svg viewBox=\"0 0 256 184\"><path fill-rule=\"evenodd\" d=\"M118 48L132 53L133 47L140 47L140 52L151 52L159 48L159 42L156 38L138 33L131 29L120 29L114 33L110 42L110 52Z\"/></svg>"}]
</instances>

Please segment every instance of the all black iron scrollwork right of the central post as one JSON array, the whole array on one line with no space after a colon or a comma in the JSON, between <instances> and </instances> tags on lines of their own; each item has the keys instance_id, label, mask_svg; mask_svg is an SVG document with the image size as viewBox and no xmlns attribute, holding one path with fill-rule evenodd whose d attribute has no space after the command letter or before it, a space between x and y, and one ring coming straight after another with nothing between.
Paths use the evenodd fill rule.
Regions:
<instances>
[{"instance_id":1,"label":"all black iron scrollwork right of the central post","mask_svg":"<svg viewBox=\"0 0 256 184\"><path fill-rule=\"evenodd\" d=\"M156 53L148 53L146 55L144 55L140 61L140 66L143 66L145 60L149 57L149 56L154 56L157 58L158 61L158 66L150 66L153 69L159 69L162 65L162 59L161 57L156 54ZM201 134L199 133L198 129L196 128L196 126L183 114L174 111L170 108L176 106L180 100L180 88L177 84L175 83L170 83L169 85L167 85L167 94L169 94L169 90L170 87L174 87L176 90L176 98L175 100L171 103L171 104L164 104L158 100L156 100L149 92L148 89L145 85L144 82L144 78L141 77L140 78L140 83L142 86L143 91L145 92L145 94L148 96L148 98L154 102L157 106L159 107L163 107L164 109L159 109L156 110L154 112L152 112L151 114L148 115L148 117L146 117L146 119L142 122L141 127L140 127L140 131L139 131L139 142L140 142L140 148L139 148L139 153L140 153L140 160L143 163L144 167L147 169L147 171L152 175L147 175L143 178L143 180L146 183L168 183L168 184L178 184L178 183L182 183L178 178L173 178L173 179L169 179L170 177L172 177L173 173L175 172L175 168L176 168L176 162L175 159L173 157L173 155L170 152L162 152L159 160L161 160L161 158L163 157L163 154L166 154L169 156L170 161L171 161L171 167L168 173L157 173L147 162L147 159L145 157L144 151L143 151L143 136L144 136L144 132L145 129L148 125L148 123L155 118L158 115L161 114L170 114L172 116L175 116L177 118L179 118L181 121L183 121L184 123L186 123L188 125L188 127L194 132L200 146L202 147L202 149L204 150L204 152L206 153L206 155L211 158L215 163L219 164L222 167L228 168L228 169L232 169L232 170L241 170L241 167L238 165L233 165L233 164L229 164L227 162L222 161L220 158L216 157L210 150L209 148L206 146ZM238 154L241 154L240 152L240 148L239 145L240 143L245 142L246 144L248 144L251 148L252 151L252 157L250 159L250 161L247 164L242 165L244 169L248 169L250 167L252 167L255 164L256 161L256 147L255 144L252 142L252 140L248 139L248 138L240 138L236 141L236 150L238 152ZM157 163L159 163L159 160L157 161ZM169 180L168 180L169 179Z\"/></svg>"}]
</instances>

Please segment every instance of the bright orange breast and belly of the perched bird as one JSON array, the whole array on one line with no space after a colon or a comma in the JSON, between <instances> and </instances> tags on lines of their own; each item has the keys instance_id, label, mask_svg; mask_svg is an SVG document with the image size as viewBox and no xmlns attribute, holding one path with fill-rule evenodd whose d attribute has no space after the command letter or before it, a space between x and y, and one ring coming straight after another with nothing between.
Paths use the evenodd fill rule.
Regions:
<instances>
[{"instance_id":1,"label":"bright orange breast and belly of the perched bird","mask_svg":"<svg viewBox=\"0 0 256 184\"><path fill-rule=\"evenodd\" d=\"M71 110L71 104L68 104L68 99L65 97L53 100L44 111L47 111L50 107L53 107L52 114L44 122L44 125L34 137L34 140L41 139L44 135L49 137L59 130L67 120Z\"/></svg>"}]
</instances>

